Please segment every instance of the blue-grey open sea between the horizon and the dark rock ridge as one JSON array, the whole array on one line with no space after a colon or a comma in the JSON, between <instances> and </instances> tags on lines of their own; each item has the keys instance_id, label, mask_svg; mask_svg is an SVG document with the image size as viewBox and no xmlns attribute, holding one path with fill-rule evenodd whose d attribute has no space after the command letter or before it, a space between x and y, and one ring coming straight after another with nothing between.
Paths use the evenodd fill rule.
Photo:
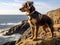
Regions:
<instances>
[{"instance_id":1,"label":"blue-grey open sea between the horizon and the dark rock ridge","mask_svg":"<svg viewBox=\"0 0 60 45\"><path fill-rule=\"evenodd\" d=\"M19 24L22 20L27 20L26 15L0 15L0 30L11 28Z\"/></svg>"}]
</instances>

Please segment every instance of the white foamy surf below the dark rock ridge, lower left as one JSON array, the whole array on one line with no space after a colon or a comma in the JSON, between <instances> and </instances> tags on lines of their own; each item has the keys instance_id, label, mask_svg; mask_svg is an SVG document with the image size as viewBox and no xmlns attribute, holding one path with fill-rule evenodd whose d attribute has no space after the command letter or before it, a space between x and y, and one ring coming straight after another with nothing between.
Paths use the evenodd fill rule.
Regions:
<instances>
[{"instance_id":1,"label":"white foamy surf below the dark rock ridge, lower left","mask_svg":"<svg viewBox=\"0 0 60 45\"><path fill-rule=\"evenodd\" d=\"M20 34L13 34L10 36L3 36L2 34L0 34L0 45L6 42L17 41L20 37Z\"/></svg>"}]
</instances>

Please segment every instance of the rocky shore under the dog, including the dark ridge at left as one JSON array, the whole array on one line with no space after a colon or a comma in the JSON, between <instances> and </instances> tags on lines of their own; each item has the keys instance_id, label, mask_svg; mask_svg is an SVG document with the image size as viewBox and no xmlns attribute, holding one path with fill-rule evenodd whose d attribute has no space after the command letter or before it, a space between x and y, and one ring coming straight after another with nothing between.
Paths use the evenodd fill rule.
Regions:
<instances>
[{"instance_id":1,"label":"rocky shore under the dog, including the dark ridge at left","mask_svg":"<svg viewBox=\"0 0 60 45\"><path fill-rule=\"evenodd\" d=\"M50 11L51 12L51 11ZM50 14L50 13L48 13ZM59 23L60 24L60 23ZM58 24L58 25L59 25ZM57 25L56 25L57 27ZM60 45L60 26L57 28L55 27L54 31L54 38L51 38L51 32L49 27L47 28L47 35L45 35L45 32L43 31L42 26L39 27L39 32L38 32L38 40L33 41L32 39L29 39L31 36L31 28L27 20L22 21L22 24L16 25L9 30L2 31L1 33L5 32L3 34L4 36L6 35L12 35L15 33L19 33L22 36L19 38L18 41L11 41L11 42L6 42L2 45Z\"/></svg>"}]
</instances>

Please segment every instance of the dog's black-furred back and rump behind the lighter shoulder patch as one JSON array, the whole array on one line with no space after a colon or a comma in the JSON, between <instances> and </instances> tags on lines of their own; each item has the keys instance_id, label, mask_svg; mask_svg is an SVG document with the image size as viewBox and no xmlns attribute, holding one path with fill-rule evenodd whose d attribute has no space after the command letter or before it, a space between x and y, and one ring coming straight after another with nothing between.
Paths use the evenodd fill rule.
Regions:
<instances>
[{"instance_id":1,"label":"dog's black-furred back and rump behind the lighter shoulder patch","mask_svg":"<svg viewBox=\"0 0 60 45\"><path fill-rule=\"evenodd\" d=\"M53 21L50 17L47 15L42 15L41 20L39 20L39 24L44 25L45 23L51 26L53 25Z\"/></svg>"}]
</instances>

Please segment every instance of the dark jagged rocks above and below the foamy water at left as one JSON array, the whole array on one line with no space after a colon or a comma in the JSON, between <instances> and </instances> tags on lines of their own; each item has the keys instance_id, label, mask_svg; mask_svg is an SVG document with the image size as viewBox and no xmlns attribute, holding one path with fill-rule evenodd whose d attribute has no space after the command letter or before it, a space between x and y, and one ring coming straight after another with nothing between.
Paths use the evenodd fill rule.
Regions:
<instances>
[{"instance_id":1,"label":"dark jagged rocks above and below the foamy water at left","mask_svg":"<svg viewBox=\"0 0 60 45\"><path fill-rule=\"evenodd\" d=\"M22 35L29 27L30 26L29 26L27 20L24 20L19 25L16 25L12 28L0 31L0 34L3 35L3 36L11 36L11 35L17 34L17 33ZM14 42L16 42L16 41L7 42L7 43L12 44ZM7 45L7 43L5 43L5 44ZM5 45L5 44L1 44L1 45Z\"/></svg>"}]
</instances>

